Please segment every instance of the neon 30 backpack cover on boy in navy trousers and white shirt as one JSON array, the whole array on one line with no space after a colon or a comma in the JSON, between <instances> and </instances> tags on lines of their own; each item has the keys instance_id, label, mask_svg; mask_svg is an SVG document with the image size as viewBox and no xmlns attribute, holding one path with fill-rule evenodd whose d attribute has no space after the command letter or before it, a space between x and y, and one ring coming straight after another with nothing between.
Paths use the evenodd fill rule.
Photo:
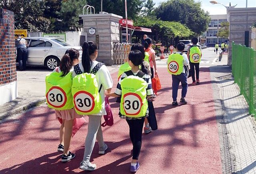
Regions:
<instances>
[{"instance_id":1,"label":"neon 30 backpack cover on boy in navy trousers and white shirt","mask_svg":"<svg viewBox=\"0 0 256 174\"><path fill-rule=\"evenodd\" d=\"M167 70L170 74L180 75L183 72L183 56L177 53L169 55Z\"/></svg>"}]
</instances>

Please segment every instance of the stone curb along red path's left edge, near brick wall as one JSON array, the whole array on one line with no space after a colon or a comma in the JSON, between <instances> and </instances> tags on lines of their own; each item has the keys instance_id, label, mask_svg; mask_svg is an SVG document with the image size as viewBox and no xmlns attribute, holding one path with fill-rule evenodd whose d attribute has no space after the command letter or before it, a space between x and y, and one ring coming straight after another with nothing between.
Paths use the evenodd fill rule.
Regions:
<instances>
[{"instance_id":1,"label":"stone curb along red path's left edge, near brick wall","mask_svg":"<svg viewBox=\"0 0 256 174\"><path fill-rule=\"evenodd\" d=\"M19 107L16 107L15 109L12 109L10 111L6 111L4 113L0 114L0 120L3 120L9 116L21 113L22 111L27 111L28 109L31 109L33 107L36 107L38 105L41 105L42 103L45 103L46 98L40 97L39 99L36 99L34 101L30 101L29 103L26 103L24 105L21 105Z\"/></svg>"}]
</instances>

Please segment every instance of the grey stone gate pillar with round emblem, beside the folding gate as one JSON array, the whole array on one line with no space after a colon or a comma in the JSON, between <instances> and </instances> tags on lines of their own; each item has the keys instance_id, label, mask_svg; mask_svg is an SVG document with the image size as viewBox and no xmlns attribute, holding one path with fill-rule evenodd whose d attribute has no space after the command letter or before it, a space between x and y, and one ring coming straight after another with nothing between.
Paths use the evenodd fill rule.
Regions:
<instances>
[{"instance_id":1,"label":"grey stone gate pillar with round emblem, beside the folding gate","mask_svg":"<svg viewBox=\"0 0 256 174\"><path fill-rule=\"evenodd\" d=\"M98 60L106 65L113 65L113 43L120 42L119 20L122 16L115 14L79 15L84 20L84 32L87 41L96 43L98 35ZM95 34L89 34L89 29L95 28Z\"/></svg>"}]
</instances>

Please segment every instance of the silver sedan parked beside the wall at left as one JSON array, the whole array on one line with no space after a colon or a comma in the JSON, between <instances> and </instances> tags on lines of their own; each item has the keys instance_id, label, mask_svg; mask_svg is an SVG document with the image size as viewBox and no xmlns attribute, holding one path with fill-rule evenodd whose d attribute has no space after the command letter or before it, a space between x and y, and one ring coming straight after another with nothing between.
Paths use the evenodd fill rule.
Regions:
<instances>
[{"instance_id":1,"label":"silver sedan parked beside the wall at left","mask_svg":"<svg viewBox=\"0 0 256 174\"><path fill-rule=\"evenodd\" d=\"M28 43L27 65L42 65L53 70L59 63L66 50L75 48L82 59L82 47L72 46L56 38L30 37L24 38Z\"/></svg>"}]
</instances>

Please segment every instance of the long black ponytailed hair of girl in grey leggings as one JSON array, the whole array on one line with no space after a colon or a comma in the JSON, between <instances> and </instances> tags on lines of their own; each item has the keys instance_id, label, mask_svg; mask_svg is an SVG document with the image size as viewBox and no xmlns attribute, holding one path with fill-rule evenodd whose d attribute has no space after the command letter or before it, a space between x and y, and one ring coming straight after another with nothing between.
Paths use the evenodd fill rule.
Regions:
<instances>
[{"instance_id":1,"label":"long black ponytailed hair of girl in grey leggings","mask_svg":"<svg viewBox=\"0 0 256 174\"><path fill-rule=\"evenodd\" d=\"M93 42L84 42L82 49L82 65L84 67L84 72L90 73L90 69L92 66L92 60L90 59L90 55L95 53L95 51L97 50L97 45Z\"/></svg>"}]
</instances>

